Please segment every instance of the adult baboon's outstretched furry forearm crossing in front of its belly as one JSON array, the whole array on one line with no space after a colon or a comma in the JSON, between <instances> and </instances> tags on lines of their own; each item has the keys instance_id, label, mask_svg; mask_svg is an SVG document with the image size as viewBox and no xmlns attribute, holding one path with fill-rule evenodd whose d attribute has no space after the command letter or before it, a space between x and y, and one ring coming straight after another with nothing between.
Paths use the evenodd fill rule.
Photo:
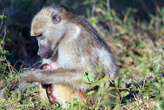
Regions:
<instances>
[{"instance_id":1,"label":"adult baboon's outstretched furry forearm crossing in front of its belly","mask_svg":"<svg viewBox=\"0 0 164 110\"><path fill-rule=\"evenodd\" d=\"M87 90L89 84L81 81L83 70L57 69L57 70L32 70L23 74L23 79L28 83L39 82L42 84L64 84L76 89Z\"/></svg>"}]
</instances>

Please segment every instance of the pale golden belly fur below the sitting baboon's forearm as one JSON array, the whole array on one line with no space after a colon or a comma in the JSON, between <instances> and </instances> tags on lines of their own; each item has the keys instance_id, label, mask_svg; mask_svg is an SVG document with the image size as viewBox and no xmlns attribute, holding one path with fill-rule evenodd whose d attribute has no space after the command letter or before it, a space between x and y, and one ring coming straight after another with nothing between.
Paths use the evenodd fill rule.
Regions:
<instances>
[{"instance_id":1,"label":"pale golden belly fur below the sitting baboon's forearm","mask_svg":"<svg viewBox=\"0 0 164 110\"><path fill-rule=\"evenodd\" d=\"M73 88L66 86L55 84L54 85L56 93L58 94L58 98L60 103L62 103L62 107L68 107L68 103L66 101L73 102L73 98L76 98L81 104L86 103L86 92L82 92L80 90L74 90ZM42 88L41 84L39 84L39 98L43 103L49 104L49 99L47 98L46 90Z\"/></svg>"}]
</instances>

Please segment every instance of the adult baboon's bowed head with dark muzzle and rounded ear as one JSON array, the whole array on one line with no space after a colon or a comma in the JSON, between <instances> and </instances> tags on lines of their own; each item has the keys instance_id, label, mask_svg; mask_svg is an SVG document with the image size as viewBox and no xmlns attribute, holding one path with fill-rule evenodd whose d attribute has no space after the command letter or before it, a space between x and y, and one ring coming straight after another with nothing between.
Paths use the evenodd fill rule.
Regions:
<instances>
[{"instance_id":1,"label":"adult baboon's bowed head with dark muzzle and rounded ear","mask_svg":"<svg viewBox=\"0 0 164 110\"><path fill-rule=\"evenodd\" d=\"M64 20L53 9L41 10L31 24L31 36L37 37L39 46L37 54L42 58L50 58L56 54L64 33Z\"/></svg>"}]
</instances>

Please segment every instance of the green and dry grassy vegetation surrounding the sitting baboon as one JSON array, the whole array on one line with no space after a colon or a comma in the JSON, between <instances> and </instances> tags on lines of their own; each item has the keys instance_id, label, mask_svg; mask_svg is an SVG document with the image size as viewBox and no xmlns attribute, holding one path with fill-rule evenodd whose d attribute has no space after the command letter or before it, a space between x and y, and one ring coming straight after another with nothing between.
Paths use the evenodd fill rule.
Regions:
<instances>
[{"instance_id":1,"label":"green and dry grassy vegetation surrounding the sitting baboon","mask_svg":"<svg viewBox=\"0 0 164 110\"><path fill-rule=\"evenodd\" d=\"M164 7L156 4L155 14L149 13L153 11L149 8L144 10L146 13L142 17L136 15L140 10L133 6L139 2L142 5L138 6L143 6L145 0L78 0L73 1L74 3L72 1L1 1L0 7L7 7L5 15L8 16L0 15L0 80L4 80L6 76L10 78L12 73L18 73L12 67L13 62L16 62L11 58L14 56L9 57L12 63L6 58L9 52L8 49L4 49L4 45L8 48L8 37L12 41L11 47L14 48L10 49L12 55L20 53L16 58L22 59L27 53L36 54L36 42L29 38L32 17L45 4L62 3L77 10L78 13L83 13L84 16L86 14L88 21L111 47L120 72L120 77L110 82L108 75L102 77L101 66L97 70L97 78L93 72L85 70L81 80L89 83L91 87L99 87L97 91L88 92L87 96L96 95L98 100L94 105L82 106L77 99L73 99L73 102L66 102L69 104L68 109L164 109ZM123 8L125 6L128 8ZM152 6L144 5L144 9L148 7ZM7 31L3 31L6 27ZM30 42L27 42L27 39L30 39ZM27 55L27 58L32 58L31 56ZM110 84L114 86L110 87ZM14 92L9 99L0 99L0 109L62 109L56 104L48 106L40 103L36 93L36 88Z\"/></svg>"}]
</instances>

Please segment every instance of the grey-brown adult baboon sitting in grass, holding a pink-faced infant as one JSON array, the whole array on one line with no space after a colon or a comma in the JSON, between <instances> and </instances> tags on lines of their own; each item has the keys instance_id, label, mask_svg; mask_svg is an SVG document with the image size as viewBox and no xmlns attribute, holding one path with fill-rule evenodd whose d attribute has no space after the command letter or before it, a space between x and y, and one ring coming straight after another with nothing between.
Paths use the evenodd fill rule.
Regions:
<instances>
[{"instance_id":1,"label":"grey-brown adult baboon sitting in grass, holding a pink-faced infant","mask_svg":"<svg viewBox=\"0 0 164 110\"><path fill-rule=\"evenodd\" d=\"M42 99L67 107L65 101L77 97L82 102L85 93L93 89L81 81L84 70L94 72L97 77L101 65L102 75L109 75L110 81L119 75L115 59L97 31L66 7L49 6L38 12L32 20L31 36L38 40L37 54L43 59L43 66L25 71L12 89L39 84ZM5 90L1 90L4 95Z\"/></svg>"}]
</instances>

